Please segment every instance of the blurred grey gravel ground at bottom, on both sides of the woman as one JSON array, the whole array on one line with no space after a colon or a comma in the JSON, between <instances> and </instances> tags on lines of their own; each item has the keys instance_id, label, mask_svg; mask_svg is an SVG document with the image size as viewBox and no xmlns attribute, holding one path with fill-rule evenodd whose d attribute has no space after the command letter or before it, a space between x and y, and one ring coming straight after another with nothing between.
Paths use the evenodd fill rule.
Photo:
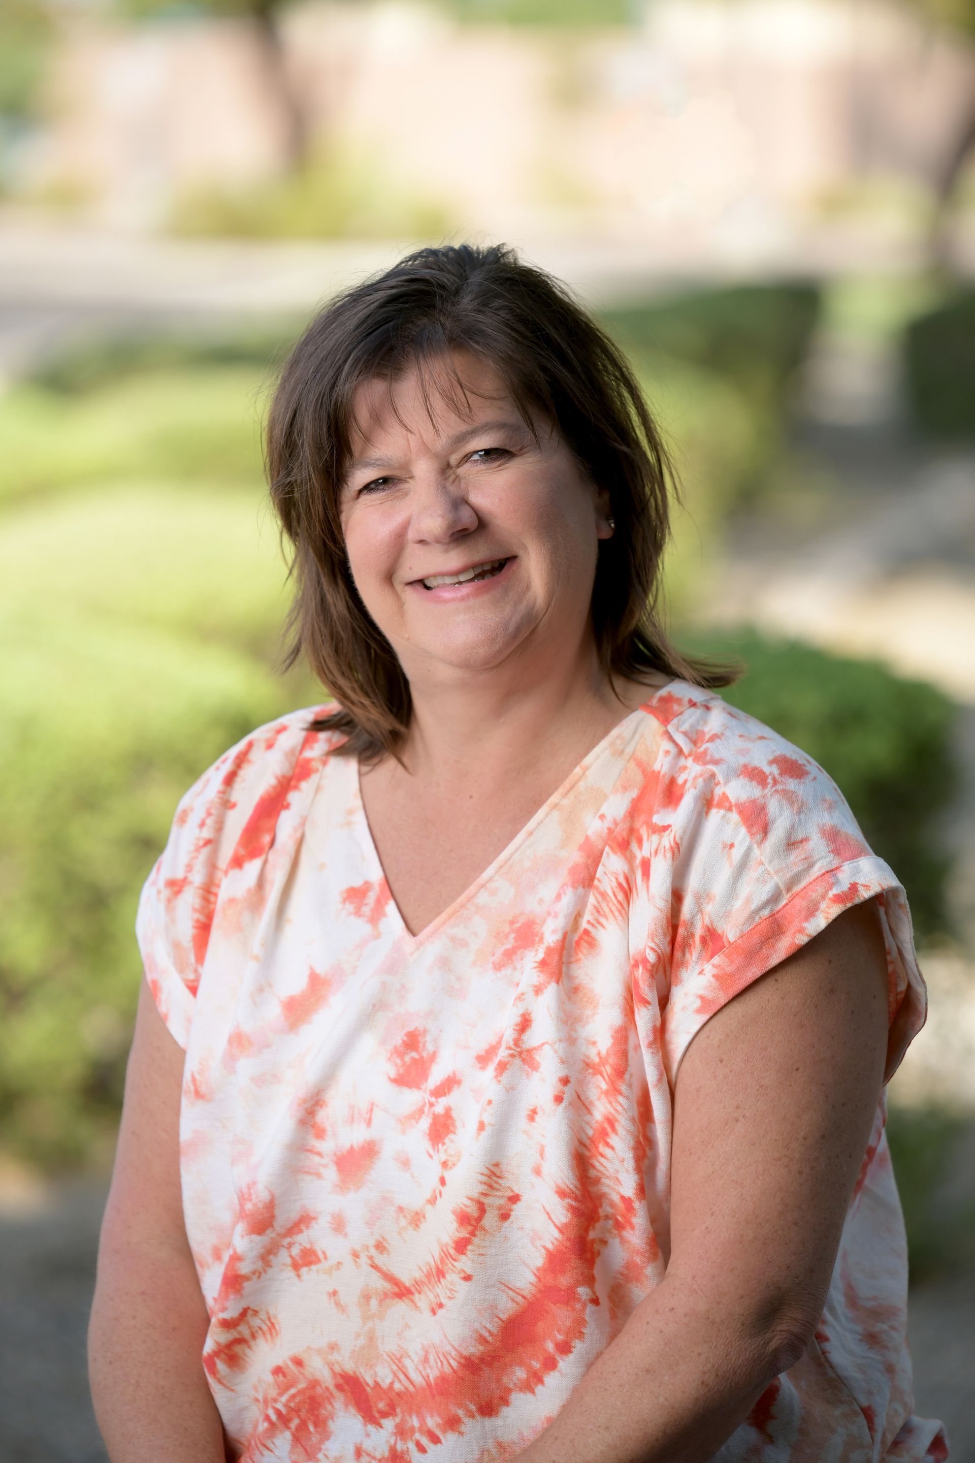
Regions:
<instances>
[{"instance_id":1,"label":"blurred grey gravel ground at bottom, on both sides of the woman","mask_svg":"<svg viewBox=\"0 0 975 1463\"><path fill-rule=\"evenodd\" d=\"M104 1185L0 1214L0 1463L107 1463L88 1399L85 1330ZM941 1418L952 1463L975 1463L975 1274L914 1290L917 1410Z\"/></svg>"}]
</instances>

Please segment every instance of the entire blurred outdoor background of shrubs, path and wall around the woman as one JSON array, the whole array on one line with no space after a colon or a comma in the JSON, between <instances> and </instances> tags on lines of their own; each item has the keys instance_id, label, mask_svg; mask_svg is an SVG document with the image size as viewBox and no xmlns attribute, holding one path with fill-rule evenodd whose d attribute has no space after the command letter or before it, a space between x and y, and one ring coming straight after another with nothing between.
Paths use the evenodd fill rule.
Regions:
<instances>
[{"instance_id":1,"label":"entire blurred outdoor background of shrubs, path and wall around the woman","mask_svg":"<svg viewBox=\"0 0 975 1463\"><path fill-rule=\"evenodd\" d=\"M94 1246L142 881L275 670L273 372L335 290L504 240L678 464L678 639L903 879L918 1410L975 1463L975 4L3 0L0 1463L104 1463Z\"/></svg>"}]
</instances>

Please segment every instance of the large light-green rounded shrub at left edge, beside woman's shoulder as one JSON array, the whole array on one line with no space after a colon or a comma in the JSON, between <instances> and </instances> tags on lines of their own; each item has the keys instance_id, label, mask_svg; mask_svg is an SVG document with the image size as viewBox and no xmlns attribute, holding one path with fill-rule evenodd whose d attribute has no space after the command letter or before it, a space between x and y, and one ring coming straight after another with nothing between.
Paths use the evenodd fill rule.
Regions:
<instances>
[{"instance_id":1,"label":"large light-green rounded shrub at left edge, beside woman's shoulder","mask_svg":"<svg viewBox=\"0 0 975 1463\"><path fill-rule=\"evenodd\" d=\"M79 616L4 635L0 1124L39 1163L111 1131L139 983L133 920L175 802L273 715L247 657Z\"/></svg>"}]
</instances>

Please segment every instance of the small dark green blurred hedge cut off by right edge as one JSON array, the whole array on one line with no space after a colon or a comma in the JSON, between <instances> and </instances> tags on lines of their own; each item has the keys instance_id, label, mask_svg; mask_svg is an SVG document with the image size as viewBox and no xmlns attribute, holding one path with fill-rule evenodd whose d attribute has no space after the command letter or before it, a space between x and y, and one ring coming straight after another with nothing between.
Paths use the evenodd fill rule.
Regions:
<instances>
[{"instance_id":1,"label":"small dark green blurred hedge cut off by right edge","mask_svg":"<svg viewBox=\"0 0 975 1463\"><path fill-rule=\"evenodd\" d=\"M930 436L975 436L975 290L918 316L903 338L915 424Z\"/></svg>"}]
</instances>

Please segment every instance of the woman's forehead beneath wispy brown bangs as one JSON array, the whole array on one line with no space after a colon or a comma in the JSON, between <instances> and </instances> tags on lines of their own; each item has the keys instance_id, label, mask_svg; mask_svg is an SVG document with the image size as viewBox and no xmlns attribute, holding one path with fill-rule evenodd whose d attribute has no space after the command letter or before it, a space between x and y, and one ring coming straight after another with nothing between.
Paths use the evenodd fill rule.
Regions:
<instances>
[{"instance_id":1,"label":"woman's forehead beneath wispy brown bangs","mask_svg":"<svg viewBox=\"0 0 975 1463\"><path fill-rule=\"evenodd\" d=\"M351 405L352 456L403 436L449 436L460 424L496 417L498 407L520 417L497 367L471 351L414 360L392 379L373 376L355 388Z\"/></svg>"}]
</instances>

